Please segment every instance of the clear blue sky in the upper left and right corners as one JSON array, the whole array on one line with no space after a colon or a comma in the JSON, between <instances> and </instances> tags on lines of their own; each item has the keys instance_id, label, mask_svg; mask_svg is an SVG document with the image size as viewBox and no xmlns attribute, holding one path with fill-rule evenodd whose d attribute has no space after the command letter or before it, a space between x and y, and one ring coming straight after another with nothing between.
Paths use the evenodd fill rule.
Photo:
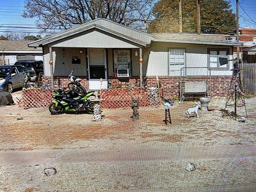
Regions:
<instances>
[{"instance_id":1,"label":"clear blue sky in the upper left and right corners","mask_svg":"<svg viewBox=\"0 0 256 192\"><path fill-rule=\"evenodd\" d=\"M21 16L24 9L24 1L0 0L0 35L4 35L6 31L27 35L39 34L39 29L36 29L35 26L36 18L26 19ZM230 2L235 13L236 0L231 0ZM239 6L239 26L256 28L256 0L239 0L239 3L241 4ZM46 34L41 35L44 37Z\"/></svg>"}]
</instances>

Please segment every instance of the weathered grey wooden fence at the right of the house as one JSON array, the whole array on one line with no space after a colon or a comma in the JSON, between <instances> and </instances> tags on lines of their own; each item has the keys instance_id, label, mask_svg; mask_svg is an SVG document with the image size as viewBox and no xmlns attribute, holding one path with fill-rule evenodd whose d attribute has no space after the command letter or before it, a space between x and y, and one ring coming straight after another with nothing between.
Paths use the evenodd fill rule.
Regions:
<instances>
[{"instance_id":1,"label":"weathered grey wooden fence at the right of the house","mask_svg":"<svg viewBox=\"0 0 256 192\"><path fill-rule=\"evenodd\" d=\"M244 63L242 73L245 92L256 94L256 63Z\"/></svg>"}]
</instances>

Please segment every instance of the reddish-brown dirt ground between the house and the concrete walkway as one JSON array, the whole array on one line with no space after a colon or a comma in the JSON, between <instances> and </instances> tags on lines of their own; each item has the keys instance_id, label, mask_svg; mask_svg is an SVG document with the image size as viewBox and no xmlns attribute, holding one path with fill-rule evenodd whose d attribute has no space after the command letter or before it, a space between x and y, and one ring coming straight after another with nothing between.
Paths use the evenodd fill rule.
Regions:
<instances>
[{"instance_id":1,"label":"reddish-brown dirt ground between the house and the concrete walkway","mask_svg":"<svg viewBox=\"0 0 256 192\"><path fill-rule=\"evenodd\" d=\"M20 93L13 94L14 100ZM221 117L225 99L213 99L212 110L199 110L199 118L185 115L193 102L175 104L170 109L172 125L164 124L163 107L139 108L140 119L135 122L131 109L102 109L102 121L94 122L89 114L56 116L47 108L5 106L0 107L0 150L255 144L256 98L247 99L246 104L249 118L244 123Z\"/></svg>"}]
</instances>

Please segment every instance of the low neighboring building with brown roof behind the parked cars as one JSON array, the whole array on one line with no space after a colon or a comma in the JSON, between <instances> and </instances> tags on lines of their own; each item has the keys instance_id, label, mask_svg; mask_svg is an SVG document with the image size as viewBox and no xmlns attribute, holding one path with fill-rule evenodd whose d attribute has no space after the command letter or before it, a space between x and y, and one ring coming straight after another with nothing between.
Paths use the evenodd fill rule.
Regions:
<instances>
[{"instance_id":1,"label":"low neighboring building with brown roof behind the parked cars","mask_svg":"<svg viewBox=\"0 0 256 192\"><path fill-rule=\"evenodd\" d=\"M27 59L43 60L42 48L28 47L29 42L0 40L0 65Z\"/></svg>"}]
</instances>

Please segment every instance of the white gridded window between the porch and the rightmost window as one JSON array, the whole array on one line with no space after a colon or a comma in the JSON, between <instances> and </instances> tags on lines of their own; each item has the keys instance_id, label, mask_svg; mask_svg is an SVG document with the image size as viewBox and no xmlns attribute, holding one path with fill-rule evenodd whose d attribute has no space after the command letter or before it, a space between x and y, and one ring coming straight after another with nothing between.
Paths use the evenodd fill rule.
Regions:
<instances>
[{"instance_id":1,"label":"white gridded window between the porch and the rightmost window","mask_svg":"<svg viewBox=\"0 0 256 192\"><path fill-rule=\"evenodd\" d=\"M185 49L169 49L169 68L170 75L179 73L182 67L185 67Z\"/></svg>"}]
</instances>

